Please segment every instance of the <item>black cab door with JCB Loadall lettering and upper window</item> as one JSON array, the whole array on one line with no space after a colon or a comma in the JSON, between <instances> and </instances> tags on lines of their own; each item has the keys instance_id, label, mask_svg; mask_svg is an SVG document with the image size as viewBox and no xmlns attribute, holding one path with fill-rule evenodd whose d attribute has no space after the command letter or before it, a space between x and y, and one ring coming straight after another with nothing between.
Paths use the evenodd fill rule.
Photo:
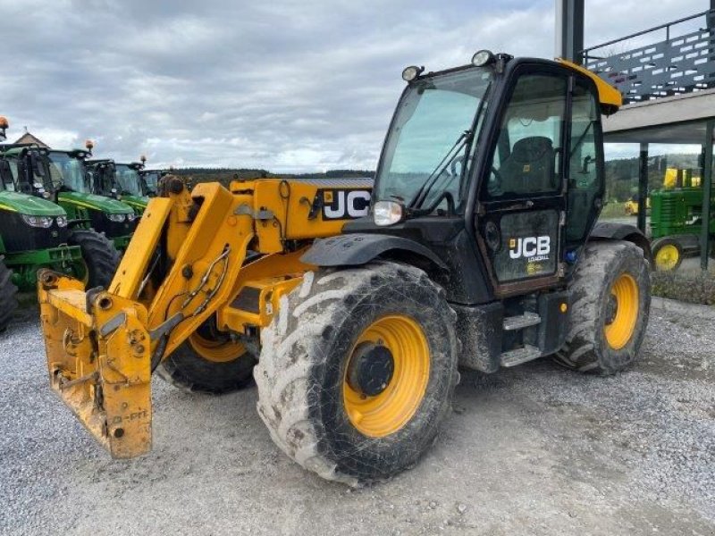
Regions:
<instances>
[{"instance_id":1,"label":"black cab door with JCB Loadall lettering and upper window","mask_svg":"<svg viewBox=\"0 0 715 536\"><path fill-rule=\"evenodd\" d=\"M549 287L563 275L570 115L568 71L522 65L492 130L476 235L495 294Z\"/></svg>"}]
</instances>

